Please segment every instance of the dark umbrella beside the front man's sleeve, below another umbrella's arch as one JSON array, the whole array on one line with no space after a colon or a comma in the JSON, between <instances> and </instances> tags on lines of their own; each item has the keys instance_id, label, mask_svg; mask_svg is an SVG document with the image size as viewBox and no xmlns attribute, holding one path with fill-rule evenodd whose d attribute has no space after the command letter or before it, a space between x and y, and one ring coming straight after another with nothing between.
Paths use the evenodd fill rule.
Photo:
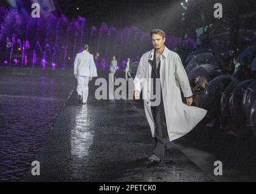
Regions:
<instances>
[{"instance_id":1,"label":"dark umbrella beside the front man's sleeve, below another umbrella's arch","mask_svg":"<svg viewBox=\"0 0 256 194\"><path fill-rule=\"evenodd\" d=\"M188 77L189 81L193 81L196 78L204 76L204 78L207 79L207 82L210 82L213 78L219 75L221 75L221 70L216 65L202 64L191 70Z\"/></svg>"}]
</instances>

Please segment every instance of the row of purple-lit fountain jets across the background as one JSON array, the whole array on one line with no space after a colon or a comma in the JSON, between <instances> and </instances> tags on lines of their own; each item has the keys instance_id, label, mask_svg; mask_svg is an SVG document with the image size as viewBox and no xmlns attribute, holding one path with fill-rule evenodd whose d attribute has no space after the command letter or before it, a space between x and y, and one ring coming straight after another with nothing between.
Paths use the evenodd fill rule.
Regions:
<instances>
[{"instance_id":1,"label":"row of purple-lit fountain jets across the background","mask_svg":"<svg viewBox=\"0 0 256 194\"><path fill-rule=\"evenodd\" d=\"M19 1L13 0L13 2L19 4ZM30 1L28 0L28 2ZM13 7L15 7L14 4ZM3 49L7 55L0 55L0 61L8 61L10 66L13 59L16 58L16 64L20 63L21 67L23 65L26 67L42 65L44 69L47 65L56 63L58 64L56 68L59 69L72 68L79 48L88 43L92 52L100 53L100 56L97 54L95 56L97 67L102 67L103 70L108 71L106 67L108 67L107 64L111 61L112 56L118 55L120 69L123 69L126 64L122 59L130 56L135 61L139 61L139 57L136 58L136 56L145 52L151 42L150 33L142 32L135 26L117 29L103 23L99 28L95 25L88 27L86 19L81 16L72 21L69 21L66 16L59 17L57 15L47 17L44 15L42 18L33 19L21 12L19 8L0 7L0 10L3 10L1 12L3 17L8 18L2 22L1 32L4 34L0 35L0 50ZM24 25L26 28L22 28ZM86 28L91 28L91 35L84 42ZM8 34L10 35L3 38ZM25 39L21 35L26 35L27 38ZM181 44L181 38L167 36L165 44L173 50ZM193 49L195 41L188 38L185 47ZM40 61L40 59L42 60Z\"/></svg>"}]
</instances>

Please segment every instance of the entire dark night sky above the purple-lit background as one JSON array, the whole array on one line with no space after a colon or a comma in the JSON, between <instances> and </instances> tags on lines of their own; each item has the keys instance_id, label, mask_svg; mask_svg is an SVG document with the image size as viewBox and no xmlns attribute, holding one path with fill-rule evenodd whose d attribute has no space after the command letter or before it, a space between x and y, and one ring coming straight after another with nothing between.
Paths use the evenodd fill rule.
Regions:
<instances>
[{"instance_id":1,"label":"entire dark night sky above the purple-lit background","mask_svg":"<svg viewBox=\"0 0 256 194\"><path fill-rule=\"evenodd\" d=\"M10 1L10 0L9 0ZM15 1L15 0L13 0ZM20 7L31 10L29 0L16 0ZM99 27L102 22L114 25L117 28L135 25L144 32L150 32L153 28L161 28L168 35L181 35L181 2L185 0L39 0L54 1L58 14L64 14L69 19L78 15L87 19L88 25ZM216 2L223 4L224 17L232 14L247 13L256 10L254 0L189 0L189 8L184 22L186 33L195 36L195 29L202 26L199 15L202 7L206 8L206 24L216 22L213 18L213 5ZM7 4L1 0L0 4ZM80 10L77 10L77 7Z\"/></svg>"}]
</instances>

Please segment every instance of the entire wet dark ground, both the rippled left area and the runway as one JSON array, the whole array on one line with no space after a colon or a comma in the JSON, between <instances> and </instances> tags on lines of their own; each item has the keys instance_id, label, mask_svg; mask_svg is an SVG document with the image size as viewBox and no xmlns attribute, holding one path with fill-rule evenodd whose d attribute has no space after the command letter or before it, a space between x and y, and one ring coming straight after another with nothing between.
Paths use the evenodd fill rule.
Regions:
<instances>
[{"instance_id":1,"label":"entire wet dark ground, both the rippled left area and the runway","mask_svg":"<svg viewBox=\"0 0 256 194\"><path fill-rule=\"evenodd\" d=\"M199 123L168 143L165 161L154 148L139 101L95 99L77 104L74 79L0 76L0 181L255 181L255 139ZM40 176L31 162L40 162ZM223 162L223 176L213 174Z\"/></svg>"}]
</instances>

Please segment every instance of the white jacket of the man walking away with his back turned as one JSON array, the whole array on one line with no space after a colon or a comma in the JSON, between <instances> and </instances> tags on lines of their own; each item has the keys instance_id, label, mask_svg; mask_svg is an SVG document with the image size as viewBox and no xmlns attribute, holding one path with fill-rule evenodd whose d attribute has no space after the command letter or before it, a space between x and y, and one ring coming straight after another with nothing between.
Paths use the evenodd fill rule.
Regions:
<instances>
[{"instance_id":1,"label":"white jacket of the man walking away with his back turned","mask_svg":"<svg viewBox=\"0 0 256 194\"><path fill-rule=\"evenodd\" d=\"M75 56L74 75L97 77L97 68L94 63L93 55L85 50Z\"/></svg>"}]
</instances>

